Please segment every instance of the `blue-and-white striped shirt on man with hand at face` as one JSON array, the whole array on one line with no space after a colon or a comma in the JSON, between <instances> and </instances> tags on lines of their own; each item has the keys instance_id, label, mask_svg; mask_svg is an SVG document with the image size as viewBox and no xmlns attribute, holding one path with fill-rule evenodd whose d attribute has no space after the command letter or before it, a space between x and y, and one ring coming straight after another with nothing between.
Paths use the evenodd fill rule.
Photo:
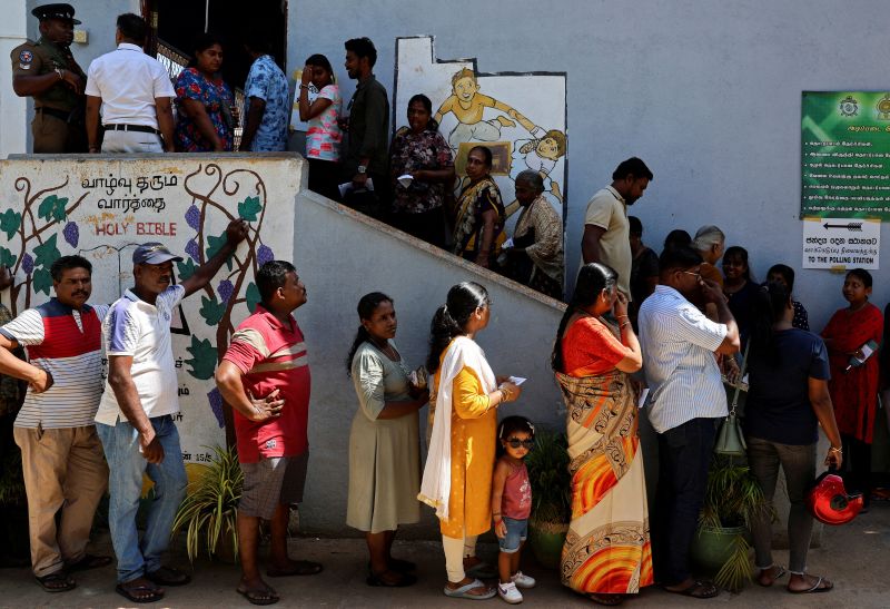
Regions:
<instances>
[{"instance_id":1,"label":"blue-and-white striped shirt on man with hand at face","mask_svg":"<svg viewBox=\"0 0 890 609\"><path fill-rule=\"evenodd\" d=\"M692 419L726 416L714 352L729 328L666 285L640 306L640 347L650 387L649 420L664 433Z\"/></svg>"}]
</instances>

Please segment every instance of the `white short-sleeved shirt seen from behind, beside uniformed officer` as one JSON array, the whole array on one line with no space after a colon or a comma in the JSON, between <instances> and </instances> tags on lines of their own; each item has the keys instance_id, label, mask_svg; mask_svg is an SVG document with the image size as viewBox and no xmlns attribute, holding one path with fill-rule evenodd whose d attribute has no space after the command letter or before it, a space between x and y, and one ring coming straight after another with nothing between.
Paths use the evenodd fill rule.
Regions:
<instances>
[{"instance_id":1,"label":"white short-sleeved shirt seen from behind, beside uniformed officer","mask_svg":"<svg viewBox=\"0 0 890 609\"><path fill-rule=\"evenodd\" d=\"M155 99L176 97L164 66L129 42L92 60L83 92L102 98L102 125L144 125L155 129Z\"/></svg>"}]
</instances>

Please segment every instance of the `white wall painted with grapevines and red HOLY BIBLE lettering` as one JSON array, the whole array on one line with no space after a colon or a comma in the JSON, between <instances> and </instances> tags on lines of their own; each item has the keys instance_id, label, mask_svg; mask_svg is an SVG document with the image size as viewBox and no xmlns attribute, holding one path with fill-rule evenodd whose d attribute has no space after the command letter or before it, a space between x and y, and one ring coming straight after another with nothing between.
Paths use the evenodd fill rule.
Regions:
<instances>
[{"instance_id":1,"label":"white wall painted with grapevines and red HOLY BIBLE lettering","mask_svg":"<svg viewBox=\"0 0 890 609\"><path fill-rule=\"evenodd\" d=\"M224 442L217 363L259 302L257 269L275 257L293 259L298 184L290 157L0 161L0 265L16 282L4 301L18 314L49 299L50 266L79 254L93 265L90 302L111 303L132 286L132 249L145 242L184 256L175 268L182 281L222 246L228 222L244 218L247 239L172 321L184 459L205 462L207 446Z\"/></svg>"}]
</instances>

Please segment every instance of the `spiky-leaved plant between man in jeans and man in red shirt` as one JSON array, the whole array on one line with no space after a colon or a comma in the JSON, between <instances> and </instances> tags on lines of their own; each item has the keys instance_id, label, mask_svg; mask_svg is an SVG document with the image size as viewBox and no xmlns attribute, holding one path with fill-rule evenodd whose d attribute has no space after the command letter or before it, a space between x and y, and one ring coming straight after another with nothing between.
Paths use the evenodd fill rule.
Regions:
<instances>
[{"instance_id":1,"label":"spiky-leaved plant between man in jeans and man in red shirt","mask_svg":"<svg viewBox=\"0 0 890 609\"><path fill-rule=\"evenodd\" d=\"M234 563L238 558L238 500L244 473L235 448L216 446L212 451L209 465L188 485L186 500L174 521L174 536L186 529L186 550L191 562L204 541L210 558Z\"/></svg>"}]
</instances>

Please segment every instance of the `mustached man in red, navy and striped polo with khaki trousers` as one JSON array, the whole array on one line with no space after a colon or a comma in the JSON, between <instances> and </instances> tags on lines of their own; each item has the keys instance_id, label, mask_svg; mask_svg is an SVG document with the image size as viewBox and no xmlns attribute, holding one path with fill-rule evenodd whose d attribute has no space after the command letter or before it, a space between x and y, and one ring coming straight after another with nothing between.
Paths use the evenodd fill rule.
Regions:
<instances>
[{"instance_id":1,"label":"mustached man in red, navy and striped polo with khaki trousers","mask_svg":"<svg viewBox=\"0 0 890 609\"><path fill-rule=\"evenodd\" d=\"M92 517L108 485L93 424L108 307L87 304L92 265L86 258L62 256L50 274L56 297L0 327L0 372L28 382L13 433L28 494L31 568L44 590L63 592L76 587L69 571L111 562L87 553ZM19 345L28 362L12 355Z\"/></svg>"}]
</instances>

